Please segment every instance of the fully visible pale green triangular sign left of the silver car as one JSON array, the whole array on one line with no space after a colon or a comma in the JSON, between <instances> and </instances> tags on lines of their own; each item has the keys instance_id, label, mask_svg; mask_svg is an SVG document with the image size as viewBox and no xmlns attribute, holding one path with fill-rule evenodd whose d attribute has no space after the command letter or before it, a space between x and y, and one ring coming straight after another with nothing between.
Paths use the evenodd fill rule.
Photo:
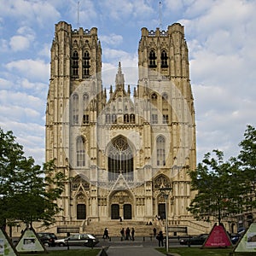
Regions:
<instances>
[{"instance_id":1,"label":"fully visible pale green triangular sign left of the silver car","mask_svg":"<svg viewBox=\"0 0 256 256\"><path fill-rule=\"evenodd\" d=\"M16 245L16 251L18 253L47 253L43 243L32 228L27 228L22 233Z\"/></svg>"}]
</instances>

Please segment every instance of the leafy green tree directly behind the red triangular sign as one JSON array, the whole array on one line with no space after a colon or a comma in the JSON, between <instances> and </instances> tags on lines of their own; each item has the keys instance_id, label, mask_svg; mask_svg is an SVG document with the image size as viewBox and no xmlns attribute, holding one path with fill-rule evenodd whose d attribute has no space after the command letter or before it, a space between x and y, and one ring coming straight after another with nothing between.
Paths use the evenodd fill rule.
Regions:
<instances>
[{"instance_id":1,"label":"leafy green tree directly behind the red triangular sign","mask_svg":"<svg viewBox=\"0 0 256 256\"><path fill-rule=\"evenodd\" d=\"M241 211L241 195L244 185L235 159L224 162L224 153L213 150L215 158L207 153L195 171L190 171L191 188L197 195L189 205L196 219L209 221L216 218L218 224L230 215Z\"/></svg>"}]
</instances>

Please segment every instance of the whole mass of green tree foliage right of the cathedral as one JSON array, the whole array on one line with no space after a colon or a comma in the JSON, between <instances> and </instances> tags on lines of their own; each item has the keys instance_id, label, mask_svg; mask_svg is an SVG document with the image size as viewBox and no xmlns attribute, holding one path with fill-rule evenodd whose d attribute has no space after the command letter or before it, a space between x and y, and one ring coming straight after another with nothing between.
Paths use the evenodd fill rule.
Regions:
<instances>
[{"instance_id":1,"label":"whole mass of green tree foliage right of the cathedral","mask_svg":"<svg viewBox=\"0 0 256 256\"><path fill-rule=\"evenodd\" d=\"M237 158L224 161L224 153L207 153L195 171L190 171L191 187L198 193L189 205L196 219L220 223L224 218L255 207L256 131L248 125L245 139L239 144Z\"/></svg>"}]
</instances>

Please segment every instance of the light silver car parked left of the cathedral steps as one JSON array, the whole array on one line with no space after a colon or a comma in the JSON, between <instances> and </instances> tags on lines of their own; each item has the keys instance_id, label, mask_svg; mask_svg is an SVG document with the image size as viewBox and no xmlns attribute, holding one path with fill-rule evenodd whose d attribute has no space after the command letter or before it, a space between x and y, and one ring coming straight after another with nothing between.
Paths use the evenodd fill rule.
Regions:
<instances>
[{"instance_id":1,"label":"light silver car parked left of the cathedral steps","mask_svg":"<svg viewBox=\"0 0 256 256\"><path fill-rule=\"evenodd\" d=\"M56 246L85 246L85 247L94 247L99 240L96 236L90 234L73 234L64 239L55 240Z\"/></svg>"}]
</instances>

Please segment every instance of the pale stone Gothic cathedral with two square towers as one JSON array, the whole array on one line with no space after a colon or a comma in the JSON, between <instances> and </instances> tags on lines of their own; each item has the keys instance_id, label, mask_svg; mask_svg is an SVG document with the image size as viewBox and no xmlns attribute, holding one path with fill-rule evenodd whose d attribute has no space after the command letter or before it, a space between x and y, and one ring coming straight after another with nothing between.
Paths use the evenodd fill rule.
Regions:
<instances>
[{"instance_id":1,"label":"pale stone Gothic cathedral with two square towers","mask_svg":"<svg viewBox=\"0 0 256 256\"><path fill-rule=\"evenodd\" d=\"M45 160L55 159L56 172L68 178L58 201L60 229L166 216L171 225L193 222L195 108L184 29L174 23L141 33L137 84L125 83L119 62L104 88L97 28L55 25Z\"/></svg>"}]
</instances>

